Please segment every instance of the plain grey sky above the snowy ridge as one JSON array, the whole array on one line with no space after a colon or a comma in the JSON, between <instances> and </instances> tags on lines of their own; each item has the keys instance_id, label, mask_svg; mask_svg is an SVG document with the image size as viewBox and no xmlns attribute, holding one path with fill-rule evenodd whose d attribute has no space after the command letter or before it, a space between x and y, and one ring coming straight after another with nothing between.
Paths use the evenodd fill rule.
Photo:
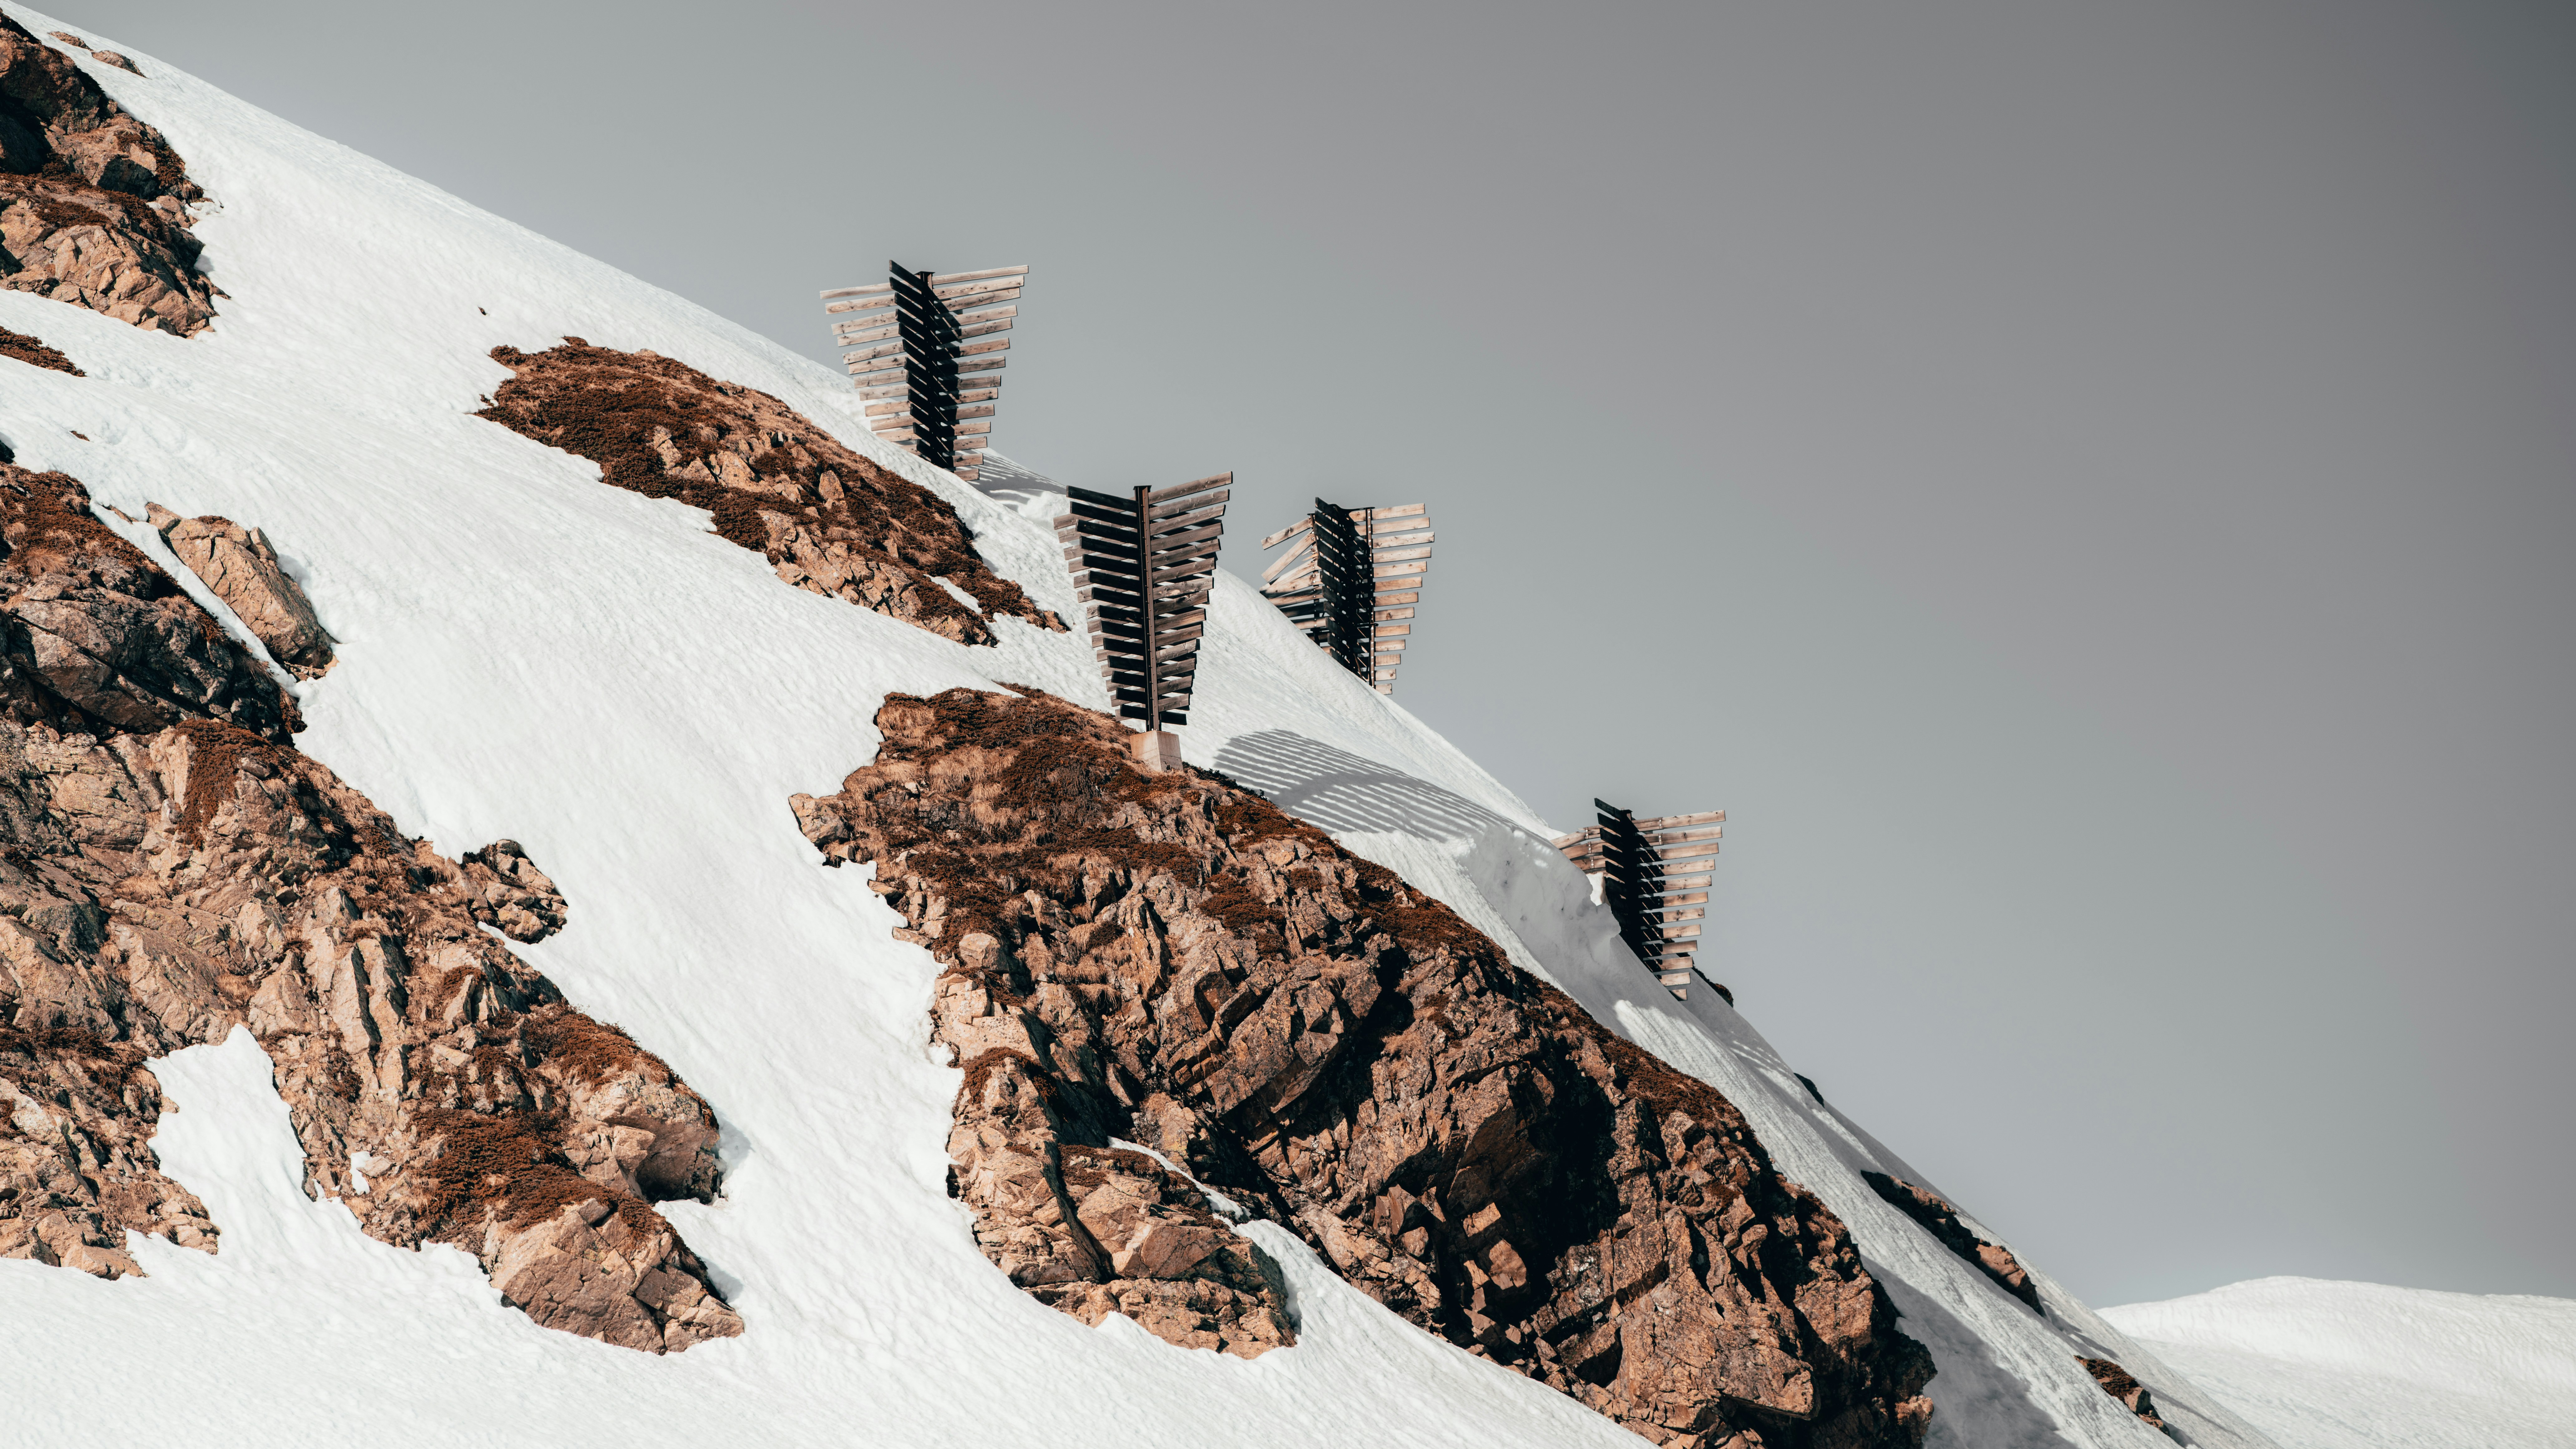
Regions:
<instances>
[{"instance_id":1,"label":"plain grey sky above the snowy ridge","mask_svg":"<svg viewBox=\"0 0 2576 1449\"><path fill-rule=\"evenodd\" d=\"M2094 1302L2576 1294L2576 23L2496 3L57 13L1002 451L1432 505L1399 701L1726 807L1708 962Z\"/></svg>"}]
</instances>

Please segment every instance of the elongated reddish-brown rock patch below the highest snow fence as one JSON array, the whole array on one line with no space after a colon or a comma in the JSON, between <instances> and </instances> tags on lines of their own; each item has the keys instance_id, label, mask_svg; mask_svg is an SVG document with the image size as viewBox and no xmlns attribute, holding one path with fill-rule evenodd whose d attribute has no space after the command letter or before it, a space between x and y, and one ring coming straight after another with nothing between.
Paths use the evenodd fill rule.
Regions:
<instances>
[{"instance_id":1,"label":"elongated reddish-brown rock patch below the highest snow fence","mask_svg":"<svg viewBox=\"0 0 2576 1449\"><path fill-rule=\"evenodd\" d=\"M961 645L989 645L989 621L1005 614L1064 629L984 565L956 508L768 392L582 338L541 353L492 348L492 358L518 376L477 418L600 464L600 482L706 508L716 534L765 554L796 588ZM958 603L940 580L976 606Z\"/></svg>"}]
</instances>

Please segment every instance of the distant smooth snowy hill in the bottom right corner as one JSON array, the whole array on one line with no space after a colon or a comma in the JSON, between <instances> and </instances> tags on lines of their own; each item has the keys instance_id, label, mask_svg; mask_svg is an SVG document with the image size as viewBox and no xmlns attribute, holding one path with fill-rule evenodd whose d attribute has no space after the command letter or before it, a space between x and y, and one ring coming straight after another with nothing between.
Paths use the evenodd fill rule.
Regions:
<instances>
[{"instance_id":1,"label":"distant smooth snowy hill in the bottom right corner","mask_svg":"<svg viewBox=\"0 0 2576 1449\"><path fill-rule=\"evenodd\" d=\"M2102 1312L2282 1449L2543 1449L2576 1423L2576 1302L2257 1279Z\"/></svg>"}]
</instances>

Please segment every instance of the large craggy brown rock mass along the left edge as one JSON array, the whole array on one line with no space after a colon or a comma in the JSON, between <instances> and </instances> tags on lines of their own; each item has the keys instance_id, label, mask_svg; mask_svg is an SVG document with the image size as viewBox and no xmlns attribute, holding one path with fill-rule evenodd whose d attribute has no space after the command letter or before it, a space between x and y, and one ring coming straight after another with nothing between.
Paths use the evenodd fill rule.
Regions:
<instances>
[{"instance_id":1,"label":"large craggy brown rock mass along the left edge","mask_svg":"<svg viewBox=\"0 0 2576 1449\"><path fill-rule=\"evenodd\" d=\"M214 1250L144 1060L247 1024L307 1191L371 1235L477 1253L549 1328L739 1333L652 1209L714 1196L714 1111L479 926L562 926L526 853L446 861L296 753L268 673L75 480L0 467L0 1256Z\"/></svg>"}]
</instances>

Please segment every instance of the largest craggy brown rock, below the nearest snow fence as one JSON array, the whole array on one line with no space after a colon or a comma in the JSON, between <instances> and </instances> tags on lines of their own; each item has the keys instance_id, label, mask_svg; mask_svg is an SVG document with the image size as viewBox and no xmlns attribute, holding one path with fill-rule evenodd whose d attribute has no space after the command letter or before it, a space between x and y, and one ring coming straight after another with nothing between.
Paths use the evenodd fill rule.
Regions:
<instances>
[{"instance_id":1,"label":"largest craggy brown rock, below the nearest snow fence","mask_svg":"<svg viewBox=\"0 0 2576 1449\"><path fill-rule=\"evenodd\" d=\"M1283 1328L1126 1140L1659 1444L1922 1439L1929 1354L1726 1098L1311 825L1028 694L889 696L876 763L791 802L945 967L953 1186L1015 1281L1175 1343Z\"/></svg>"}]
</instances>

